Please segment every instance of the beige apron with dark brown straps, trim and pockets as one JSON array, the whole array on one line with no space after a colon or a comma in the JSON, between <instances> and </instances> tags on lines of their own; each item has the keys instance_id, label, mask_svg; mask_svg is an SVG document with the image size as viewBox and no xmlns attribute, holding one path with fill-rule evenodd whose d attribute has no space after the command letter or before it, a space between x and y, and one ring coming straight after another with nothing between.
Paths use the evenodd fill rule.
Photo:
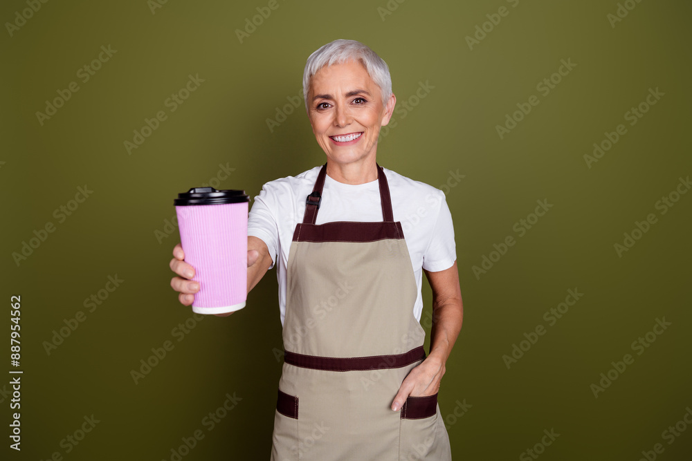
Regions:
<instances>
[{"instance_id":1,"label":"beige apron with dark brown straps, trim and pockets","mask_svg":"<svg viewBox=\"0 0 692 461\"><path fill-rule=\"evenodd\" d=\"M289 250L272 461L451 460L437 394L394 396L426 354L401 223L378 165L383 221L316 225L326 165Z\"/></svg>"}]
</instances>

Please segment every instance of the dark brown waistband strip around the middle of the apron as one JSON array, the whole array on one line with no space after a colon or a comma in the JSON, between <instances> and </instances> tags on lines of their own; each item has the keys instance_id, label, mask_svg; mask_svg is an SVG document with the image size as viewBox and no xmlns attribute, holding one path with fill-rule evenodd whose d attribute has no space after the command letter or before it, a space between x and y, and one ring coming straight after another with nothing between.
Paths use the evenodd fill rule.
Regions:
<instances>
[{"instance_id":1,"label":"dark brown waistband strip around the middle of the apron","mask_svg":"<svg viewBox=\"0 0 692 461\"><path fill-rule=\"evenodd\" d=\"M284 352L284 362L301 368L325 371L363 371L384 370L385 368L401 368L415 361L426 358L423 346L411 349L403 354L372 355L370 357L317 357L316 355Z\"/></svg>"}]
</instances>

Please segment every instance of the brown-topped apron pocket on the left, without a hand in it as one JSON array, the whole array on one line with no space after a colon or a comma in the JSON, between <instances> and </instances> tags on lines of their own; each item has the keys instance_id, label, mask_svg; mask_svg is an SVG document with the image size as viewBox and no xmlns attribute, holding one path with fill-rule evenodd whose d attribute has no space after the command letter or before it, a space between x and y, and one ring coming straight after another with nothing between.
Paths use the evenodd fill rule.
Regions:
<instances>
[{"instance_id":1,"label":"brown-topped apron pocket on the left, without a hand in it","mask_svg":"<svg viewBox=\"0 0 692 461\"><path fill-rule=\"evenodd\" d=\"M274 413L271 461L298 461L298 397L281 390Z\"/></svg>"}]
</instances>

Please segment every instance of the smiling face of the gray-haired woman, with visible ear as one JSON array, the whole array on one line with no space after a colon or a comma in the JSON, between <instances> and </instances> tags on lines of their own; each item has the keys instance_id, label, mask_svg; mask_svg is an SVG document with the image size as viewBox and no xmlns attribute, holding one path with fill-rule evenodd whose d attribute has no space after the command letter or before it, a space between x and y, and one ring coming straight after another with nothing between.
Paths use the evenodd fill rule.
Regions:
<instances>
[{"instance_id":1,"label":"smiling face of the gray-haired woman, with visible ear","mask_svg":"<svg viewBox=\"0 0 692 461\"><path fill-rule=\"evenodd\" d=\"M310 124L327 161L374 162L381 126L389 123L397 99L382 103L382 92L360 62L325 66L310 79Z\"/></svg>"}]
</instances>

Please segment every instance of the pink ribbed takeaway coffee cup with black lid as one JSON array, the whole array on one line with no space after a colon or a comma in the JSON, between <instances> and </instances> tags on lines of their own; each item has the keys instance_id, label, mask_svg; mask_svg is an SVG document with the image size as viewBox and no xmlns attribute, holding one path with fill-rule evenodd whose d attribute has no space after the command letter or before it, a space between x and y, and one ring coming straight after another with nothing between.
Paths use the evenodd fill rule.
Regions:
<instances>
[{"instance_id":1,"label":"pink ribbed takeaway coffee cup with black lid","mask_svg":"<svg viewBox=\"0 0 692 461\"><path fill-rule=\"evenodd\" d=\"M185 262L199 282L192 310L224 314L248 294L248 202L245 191L193 187L174 200Z\"/></svg>"}]
</instances>

